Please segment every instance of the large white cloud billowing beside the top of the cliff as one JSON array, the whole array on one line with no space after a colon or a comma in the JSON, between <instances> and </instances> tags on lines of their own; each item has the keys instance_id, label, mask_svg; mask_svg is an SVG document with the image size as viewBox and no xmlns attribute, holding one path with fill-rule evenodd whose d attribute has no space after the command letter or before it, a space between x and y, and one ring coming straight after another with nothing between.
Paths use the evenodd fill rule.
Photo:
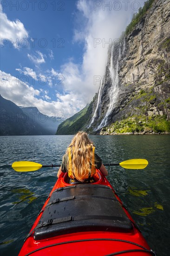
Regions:
<instances>
[{"instance_id":1,"label":"large white cloud billowing beside the top of the cliff","mask_svg":"<svg viewBox=\"0 0 170 256\"><path fill-rule=\"evenodd\" d=\"M106 4L106 1L99 2ZM118 42L119 36L135 12L131 5L126 7L127 9L122 4L121 10L116 11L109 10L108 7L104 10L101 5L95 11L94 1L78 0L78 19L80 20L77 20L78 27L74 31L73 43L84 44L83 61L77 64L69 60L60 67L59 71L51 70L54 75L62 74L64 77L63 89L66 92L64 98L68 100L70 97L71 102L72 94L74 94L74 99L77 99L72 102L72 106L85 107L86 103L90 102L98 92L99 82L95 83L94 79L95 76L102 77L105 73L109 47L107 42L110 41L111 44ZM99 43L95 45L95 42Z\"/></svg>"}]
</instances>

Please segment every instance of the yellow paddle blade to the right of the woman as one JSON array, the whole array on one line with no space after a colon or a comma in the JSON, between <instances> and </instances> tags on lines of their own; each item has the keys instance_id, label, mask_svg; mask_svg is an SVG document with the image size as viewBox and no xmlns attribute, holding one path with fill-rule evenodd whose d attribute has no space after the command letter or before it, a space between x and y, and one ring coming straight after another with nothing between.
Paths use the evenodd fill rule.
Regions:
<instances>
[{"instance_id":1,"label":"yellow paddle blade to the right of the woman","mask_svg":"<svg viewBox=\"0 0 170 256\"><path fill-rule=\"evenodd\" d=\"M119 165L126 169L144 169L148 165L146 159L130 159L119 163Z\"/></svg>"}]
</instances>

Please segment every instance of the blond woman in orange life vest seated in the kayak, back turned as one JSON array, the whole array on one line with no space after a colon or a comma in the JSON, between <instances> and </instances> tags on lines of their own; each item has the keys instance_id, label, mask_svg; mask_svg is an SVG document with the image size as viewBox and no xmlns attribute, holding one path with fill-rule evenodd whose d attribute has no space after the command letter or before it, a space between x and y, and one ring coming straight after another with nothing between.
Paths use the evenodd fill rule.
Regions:
<instances>
[{"instance_id":1,"label":"blond woman in orange life vest seated in the kayak, back turned","mask_svg":"<svg viewBox=\"0 0 170 256\"><path fill-rule=\"evenodd\" d=\"M71 184L94 182L93 175L96 172L96 168L107 176L108 172L101 158L94 151L95 147L87 134L78 132L66 149L57 174L58 178L63 173L68 172Z\"/></svg>"}]
</instances>

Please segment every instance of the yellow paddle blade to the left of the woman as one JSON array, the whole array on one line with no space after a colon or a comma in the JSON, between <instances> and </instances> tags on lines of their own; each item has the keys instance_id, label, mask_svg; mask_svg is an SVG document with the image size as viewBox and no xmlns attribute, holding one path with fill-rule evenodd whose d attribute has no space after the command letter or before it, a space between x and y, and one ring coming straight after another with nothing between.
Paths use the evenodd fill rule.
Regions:
<instances>
[{"instance_id":1,"label":"yellow paddle blade to the left of the woman","mask_svg":"<svg viewBox=\"0 0 170 256\"><path fill-rule=\"evenodd\" d=\"M32 172L39 170L42 164L36 162L19 161L13 162L12 168L17 172Z\"/></svg>"}]
</instances>

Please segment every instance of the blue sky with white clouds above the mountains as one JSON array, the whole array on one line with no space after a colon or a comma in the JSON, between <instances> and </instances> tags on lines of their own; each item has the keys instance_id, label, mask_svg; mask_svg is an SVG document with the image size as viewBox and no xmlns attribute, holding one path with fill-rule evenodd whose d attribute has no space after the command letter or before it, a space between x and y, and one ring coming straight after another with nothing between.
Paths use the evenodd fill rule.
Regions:
<instances>
[{"instance_id":1,"label":"blue sky with white clouds above the mountains","mask_svg":"<svg viewBox=\"0 0 170 256\"><path fill-rule=\"evenodd\" d=\"M98 92L94 77L104 75L109 46L104 42L118 40L143 4L2 0L1 95L46 115L77 113Z\"/></svg>"}]
</instances>

